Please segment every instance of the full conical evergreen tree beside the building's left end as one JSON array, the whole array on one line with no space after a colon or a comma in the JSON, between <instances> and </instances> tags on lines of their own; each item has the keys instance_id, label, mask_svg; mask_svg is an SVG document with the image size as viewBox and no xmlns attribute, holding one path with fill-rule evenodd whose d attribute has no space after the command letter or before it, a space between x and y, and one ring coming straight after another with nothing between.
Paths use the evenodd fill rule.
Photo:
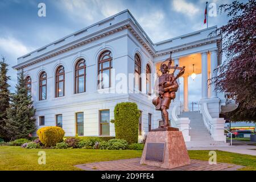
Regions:
<instances>
[{"instance_id":1,"label":"full conical evergreen tree beside the building's left end","mask_svg":"<svg viewBox=\"0 0 256 182\"><path fill-rule=\"evenodd\" d=\"M11 140L28 138L36 130L35 109L32 104L22 70L18 76L15 93L11 95L10 107L7 109L6 126Z\"/></svg>"}]
</instances>

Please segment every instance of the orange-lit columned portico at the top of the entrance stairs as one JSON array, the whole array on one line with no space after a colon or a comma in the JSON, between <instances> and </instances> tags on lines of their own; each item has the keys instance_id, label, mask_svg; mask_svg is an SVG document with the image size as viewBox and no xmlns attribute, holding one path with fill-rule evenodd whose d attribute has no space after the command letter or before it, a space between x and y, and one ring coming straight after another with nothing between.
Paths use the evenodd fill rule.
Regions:
<instances>
[{"instance_id":1,"label":"orange-lit columned portico at the top of the entrance stairs","mask_svg":"<svg viewBox=\"0 0 256 182\"><path fill-rule=\"evenodd\" d=\"M209 79L217 76L214 69L217 68L217 49L212 49L208 51L201 51L197 53L192 53L190 55L174 57L172 61L172 66L179 65L185 66L185 73L183 76L183 85L180 85L180 80L177 79L178 84L183 86L183 111L189 111L188 107L188 78L192 73L196 74L195 79L199 79L198 75L201 74L201 98L198 100L209 100L211 98L217 98L217 92L214 90L214 85L209 85ZM160 74L160 64L156 64L156 72ZM191 84L192 85L192 84ZM192 85L193 86L193 85ZM175 102L181 103L180 87L176 92Z\"/></svg>"}]
</instances>

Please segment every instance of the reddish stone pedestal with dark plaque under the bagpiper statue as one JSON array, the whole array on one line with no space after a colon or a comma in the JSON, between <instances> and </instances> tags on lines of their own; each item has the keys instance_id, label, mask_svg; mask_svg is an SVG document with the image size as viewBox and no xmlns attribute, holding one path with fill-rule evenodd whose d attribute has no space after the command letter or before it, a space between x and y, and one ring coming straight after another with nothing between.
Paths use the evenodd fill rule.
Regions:
<instances>
[{"instance_id":1,"label":"reddish stone pedestal with dark plaque under the bagpiper statue","mask_svg":"<svg viewBox=\"0 0 256 182\"><path fill-rule=\"evenodd\" d=\"M190 164L182 132L150 131L140 163L168 169Z\"/></svg>"}]
</instances>

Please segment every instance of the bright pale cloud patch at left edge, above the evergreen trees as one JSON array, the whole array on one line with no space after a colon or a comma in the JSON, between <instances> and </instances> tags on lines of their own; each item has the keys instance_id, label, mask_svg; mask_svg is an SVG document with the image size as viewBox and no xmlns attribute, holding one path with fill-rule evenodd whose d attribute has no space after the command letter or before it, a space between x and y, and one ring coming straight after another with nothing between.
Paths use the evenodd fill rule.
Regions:
<instances>
[{"instance_id":1,"label":"bright pale cloud patch at left edge, above the evergreen trees","mask_svg":"<svg viewBox=\"0 0 256 182\"><path fill-rule=\"evenodd\" d=\"M24 46L24 44L22 44L21 42L19 42L19 40L16 40L13 37L0 37L0 50L3 50L6 53L15 57L22 56L30 52L32 49L33 48L28 48Z\"/></svg>"}]
</instances>

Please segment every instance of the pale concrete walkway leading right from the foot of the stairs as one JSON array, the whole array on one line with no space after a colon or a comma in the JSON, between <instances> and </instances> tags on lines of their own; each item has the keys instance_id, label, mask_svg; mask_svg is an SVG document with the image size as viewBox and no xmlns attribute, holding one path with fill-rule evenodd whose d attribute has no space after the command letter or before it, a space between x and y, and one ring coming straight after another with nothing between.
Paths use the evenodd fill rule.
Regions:
<instances>
[{"instance_id":1,"label":"pale concrete walkway leading right from the foot of the stairs","mask_svg":"<svg viewBox=\"0 0 256 182\"><path fill-rule=\"evenodd\" d=\"M189 147L188 150L220 150L226 152L233 152L238 154L247 154L256 156L256 146L249 145L255 142L240 142L234 141L233 146L225 147Z\"/></svg>"}]
</instances>

